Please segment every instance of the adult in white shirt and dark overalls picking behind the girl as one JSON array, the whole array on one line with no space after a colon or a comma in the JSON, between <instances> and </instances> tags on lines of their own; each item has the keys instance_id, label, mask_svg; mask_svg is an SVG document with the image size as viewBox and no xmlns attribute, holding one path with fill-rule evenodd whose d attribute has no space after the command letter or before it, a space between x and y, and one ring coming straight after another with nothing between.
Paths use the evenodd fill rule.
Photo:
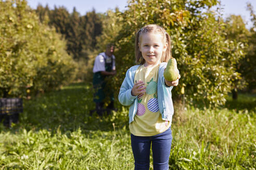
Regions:
<instances>
[{"instance_id":1,"label":"adult in white shirt and dark overalls picking behind the girl","mask_svg":"<svg viewBox=\"0 0 256 170\"><path fill-rule=\"evenodd\" d=\"M96 56L93 66L93 87L95 90L93 101L96 104L96 112L99 116L103 115L104 104L110 100L107 106L107 113L114 109L114 97L110 84L106 81L108 76L116 75L116 62L113 55L114 46L108 44L105 52Z\"/></svg>"}]
</instances>

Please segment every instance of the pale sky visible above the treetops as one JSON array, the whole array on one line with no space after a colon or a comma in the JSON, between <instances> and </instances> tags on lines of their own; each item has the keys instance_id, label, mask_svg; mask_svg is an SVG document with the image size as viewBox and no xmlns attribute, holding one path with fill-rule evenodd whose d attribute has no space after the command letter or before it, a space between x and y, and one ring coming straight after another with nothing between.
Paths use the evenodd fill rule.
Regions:
<instances>
[{"instance_id":1,"label":"pale sky visible above the treetops","mask_svg":"<svg viewBox=\"0 0 256 170\"><path fill-rule=\"evenodd\" d=\"M96 12L106 12L108 9L114 9L118 7L121 11L127 9L128 0L27 0L31 8L35 9L38 4L44 7L48 4L50 9L54 9L54 6L64 6L69 12L73 11L75 7L82 16L88 11L92 11L94 8ZM249 29L252 26L250 21L250 12L247 10L247 2L250 2L253 6L254 13L256 13L256 1L255 0L221 0L223 9L223 17L226 18L229 15L240 15L242 19L247 23L246 27Z\"/></svg>"}]
</instances>

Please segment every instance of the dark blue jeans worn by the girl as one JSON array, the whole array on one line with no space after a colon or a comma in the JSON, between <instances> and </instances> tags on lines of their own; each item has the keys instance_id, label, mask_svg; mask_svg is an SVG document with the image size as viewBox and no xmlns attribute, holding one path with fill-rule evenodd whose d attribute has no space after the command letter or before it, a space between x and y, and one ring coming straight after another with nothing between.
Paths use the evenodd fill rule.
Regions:
<instances>
[{"instance_id":1,"label":"dark blue jeans worn by the girl","mask_svg":"<svg viewBox=\"0 0 256 170\"><path fill-rule=\"evenodd\" d=\"M171 127L155 136L135 136L131 134L135 170L149 169L149 155L152 143L153 169L169 169L169 156L172 146Z\"/></svg>"}]
</instances>

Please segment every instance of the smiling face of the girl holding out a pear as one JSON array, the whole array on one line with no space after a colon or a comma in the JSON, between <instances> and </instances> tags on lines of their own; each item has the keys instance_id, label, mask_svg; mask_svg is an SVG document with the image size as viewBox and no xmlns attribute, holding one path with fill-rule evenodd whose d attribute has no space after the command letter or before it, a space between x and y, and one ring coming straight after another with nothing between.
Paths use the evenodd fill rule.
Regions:
<instances>
[{"instance_id":1,"label":"smiling face of the girl holding out a pear","mask_svg":"<svg viewBox=\"0 0 256 170\"><path fill-rule=\"evenodd\" d=\"M143 33L139 37L139 51L145 59L144 66L155 66L160 63L163 51L167 50L167 43L163 43L163 37L159 33Z\"/></svg>"}]
</instances>

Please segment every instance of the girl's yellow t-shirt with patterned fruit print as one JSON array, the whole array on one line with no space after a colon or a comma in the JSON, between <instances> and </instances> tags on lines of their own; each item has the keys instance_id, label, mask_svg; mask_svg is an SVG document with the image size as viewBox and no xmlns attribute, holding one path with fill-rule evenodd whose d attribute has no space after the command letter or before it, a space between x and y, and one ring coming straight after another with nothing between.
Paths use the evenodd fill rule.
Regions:
<instances>
[{"instance_id":1,"label":"girl's yellow t-shirt with patterned fruit print","mask_svg":"<svg viewBox=\"0 0 256 170\"><path fill-rule=\"evenodd\" d=\"M130 132L135 136L153 136L166 131L170 126L162 120L158 108L157 100L157 81L159 65L154 67L138 67L134 77L134 83L142 80L147 88L146 93L138 96L137 114L134 121L130 123ZM167 124L166 124L167 123Z\"/></svg>"}]
</instances>

